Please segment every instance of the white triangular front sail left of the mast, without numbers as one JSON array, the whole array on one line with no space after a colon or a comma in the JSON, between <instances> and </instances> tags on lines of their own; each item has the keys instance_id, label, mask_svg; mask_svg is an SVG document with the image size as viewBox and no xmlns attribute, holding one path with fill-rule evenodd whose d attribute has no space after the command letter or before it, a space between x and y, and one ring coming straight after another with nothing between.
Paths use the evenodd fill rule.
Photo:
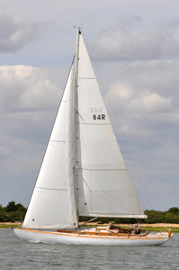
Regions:
<instances>
[{"instance_id":1,"label":"white triangular front sail left of the mast, without numbers","mask_svg":"<svg viewBox=\"0 0 179 270\"><path fill-rule=\"evenodd\" d=\"M72 164L72 65L23 228L76 228Z\"/></svg>"}]
</instances>

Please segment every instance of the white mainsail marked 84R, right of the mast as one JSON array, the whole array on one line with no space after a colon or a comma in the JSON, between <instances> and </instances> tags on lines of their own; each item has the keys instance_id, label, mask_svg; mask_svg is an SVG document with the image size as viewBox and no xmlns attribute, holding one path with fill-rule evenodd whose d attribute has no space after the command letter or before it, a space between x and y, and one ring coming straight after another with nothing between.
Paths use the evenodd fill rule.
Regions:
<instances>
[{"instance_id":1,"label":"white mainsail marked 84R, right of the mast","mask_svg":"<svg viewBox=\"0 0 179 270\"><path fill-rule=\"evenodd\" d=\"M146 218L121 157L81 34L78 58L78 213Z\"/></svg>"}]
</instances>

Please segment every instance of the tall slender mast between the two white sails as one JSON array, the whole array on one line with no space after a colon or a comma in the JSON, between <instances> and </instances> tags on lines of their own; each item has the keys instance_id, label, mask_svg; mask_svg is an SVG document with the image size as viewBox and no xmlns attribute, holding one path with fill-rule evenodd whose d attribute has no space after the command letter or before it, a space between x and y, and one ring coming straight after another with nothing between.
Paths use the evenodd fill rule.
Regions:
<instances>
[{"instance_id":1,"label":"tall slender mast between the two white sails","mask_svg":"<svg viewBox=\"0 0 179 270\"><path fill-rule=\"evenodd\" d=\"M77 160L76 160L76 116L78 113L77 108L77 77L78 77L78 55L79 55L79 35L81 30L77 28L76 34L76 62L75 62L75 89L74 89L74 184L75 184L75 194L76 194L76 214L78 216L78 198L77 198Z\"/></svg>"}]
</instances>

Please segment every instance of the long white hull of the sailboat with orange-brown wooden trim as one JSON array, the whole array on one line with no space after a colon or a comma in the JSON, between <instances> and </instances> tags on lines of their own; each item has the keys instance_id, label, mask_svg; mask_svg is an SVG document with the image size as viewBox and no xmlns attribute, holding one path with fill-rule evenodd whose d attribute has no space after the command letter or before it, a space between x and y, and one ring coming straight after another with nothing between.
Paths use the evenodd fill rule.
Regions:
<instances>
[{"instance_id":1,"label":"long white hull of the sailboat with orange-brown wooden trim","mask_svg":"<svg viewBox=\"0 0 179 270\"><path fill-rule=\"evenodd\" d=\"M158 246L166 243L169 239L166 235L158 237L139 236L104 236L66 232L42 231L34 229L13 229L15 234L22 239L32 242L44 242L54 244L71 245L96 245L96 246ZM171 237L170 237L171 238Z\"/></svg>"}]
</instances>

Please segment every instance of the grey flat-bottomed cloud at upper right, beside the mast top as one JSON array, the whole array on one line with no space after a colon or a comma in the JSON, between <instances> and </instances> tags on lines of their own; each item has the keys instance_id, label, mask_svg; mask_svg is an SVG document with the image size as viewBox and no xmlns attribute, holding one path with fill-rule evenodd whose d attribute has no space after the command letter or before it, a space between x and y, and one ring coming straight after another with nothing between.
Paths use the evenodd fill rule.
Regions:
<instances>
[{"instance_id":1,"label":"grey flat-bottomed cloud at upper right, beside the mast top","mask_svg":"<svg viewBox=\"0 0 179 270\"><path fill-rule=\"evenodd\" d=\"M140 22L141 23L141 22ZM94 56L107 61L134 61L175 58L179 41L175 38L178 22L157 26L153 31L133 32L126 26L100 31L92 42Z\"/></svg>"}]
</instances>

